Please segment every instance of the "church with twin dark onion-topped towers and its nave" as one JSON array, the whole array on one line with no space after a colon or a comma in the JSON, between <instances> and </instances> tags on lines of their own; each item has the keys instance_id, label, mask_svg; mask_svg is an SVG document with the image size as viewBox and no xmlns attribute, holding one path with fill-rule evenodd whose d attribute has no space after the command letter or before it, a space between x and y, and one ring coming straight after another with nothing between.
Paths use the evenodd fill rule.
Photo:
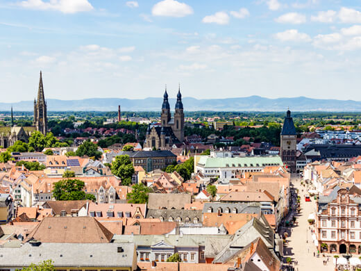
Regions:
<instances>
[{"instance_id":1,"label":"church with twin dark onion-topped towers and its nave","mask_svg":"<svg viewBox=\"0 0 361 271\"><path fill-rule=\"evenodd\" d=\"M163 96L160 125L149 125L146 130L144 147L149 149L165 149L174 143L184 140L184 113L181 88L178 89L174 117L171 117L171 109L168 101L167 88Z\"/></svg>"}]
</instances>

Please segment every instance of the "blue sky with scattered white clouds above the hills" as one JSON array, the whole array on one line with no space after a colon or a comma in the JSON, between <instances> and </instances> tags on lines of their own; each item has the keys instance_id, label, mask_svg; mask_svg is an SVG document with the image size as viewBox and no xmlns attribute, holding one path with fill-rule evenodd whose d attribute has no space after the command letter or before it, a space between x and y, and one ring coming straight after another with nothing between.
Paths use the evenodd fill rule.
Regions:
<instances>
[{"instance_id":1,"label":"blue sky with scattered white clouds above the hills","mask_svg":"<svg viewBox=\"0 0 361 271\"><path fill-rule=\"evenodd\" d=\"M0 0L0 102L361 100L361 1Z\"/></svg>"}]
</instances>

